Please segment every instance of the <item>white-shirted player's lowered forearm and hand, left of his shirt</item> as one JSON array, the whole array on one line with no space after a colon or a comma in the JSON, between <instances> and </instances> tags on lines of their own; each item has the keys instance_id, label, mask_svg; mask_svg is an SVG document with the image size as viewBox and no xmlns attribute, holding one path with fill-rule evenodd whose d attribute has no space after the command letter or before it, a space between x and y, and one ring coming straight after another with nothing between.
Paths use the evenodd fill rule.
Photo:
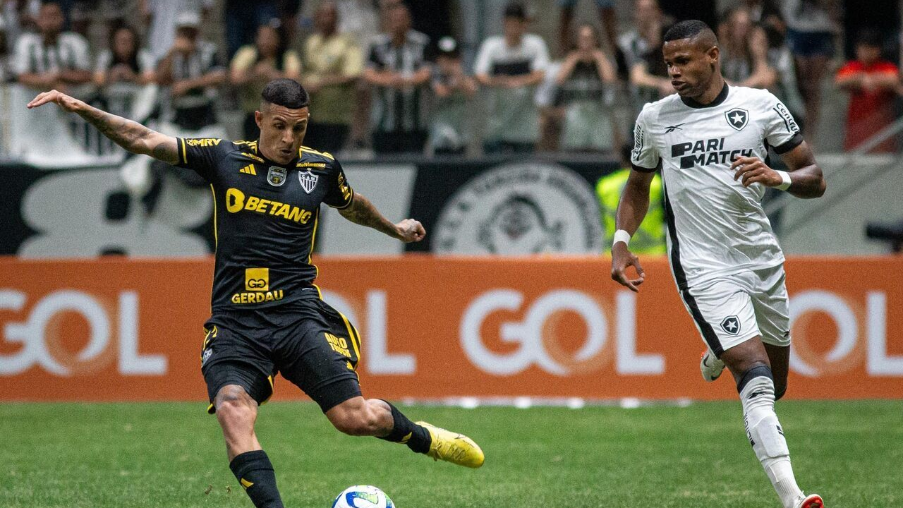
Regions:
<instances>
[{"instance_id":1,"label":"white-shirted player's lowered forearm and hand, left of his shirt","mask_svg":"<svg viewBox=\"0 0 903 508\"><path fill-rule=\"evenodd\" d=\"M655 173L641 173L631 171L624 185L618 202L618 212L615 216L615 224L619 230L627 231L630 236L637 232L639 225L646 217L649 210L649 186ZM628 267L636 268L637 278L629 278ZM639 264L639 259L630 252L627 243L615 241L611 246L611 278L633 292L638 292L638 286L646 279L646 272Z\"/></svg>"}]
</instances>

